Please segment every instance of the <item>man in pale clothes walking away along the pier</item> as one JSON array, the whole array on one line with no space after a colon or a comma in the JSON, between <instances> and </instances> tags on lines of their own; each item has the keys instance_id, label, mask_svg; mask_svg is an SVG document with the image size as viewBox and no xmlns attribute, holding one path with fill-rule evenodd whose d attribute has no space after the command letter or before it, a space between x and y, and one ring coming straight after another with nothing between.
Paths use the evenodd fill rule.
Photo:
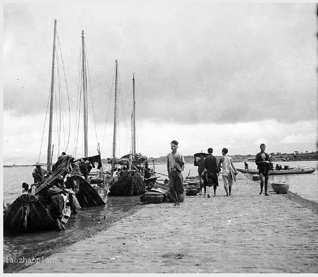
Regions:
<instances>
[{"instance_id":1,"label":"man in pale clothes walking away along the pier","mask_svg":"<svg viewBox=\"0 0 318 277\"><path fill-rule=\"evenodd\" d=\"M238 171L234 166L233 160L228 156L229 150L227 148L222 149L222 157L220 158L219 165L222 167L222 179L226 196L231 195L233 176L232 174L238 175ZM231 172L232 171L232 172Z\"/></svg>"}]
</instances>

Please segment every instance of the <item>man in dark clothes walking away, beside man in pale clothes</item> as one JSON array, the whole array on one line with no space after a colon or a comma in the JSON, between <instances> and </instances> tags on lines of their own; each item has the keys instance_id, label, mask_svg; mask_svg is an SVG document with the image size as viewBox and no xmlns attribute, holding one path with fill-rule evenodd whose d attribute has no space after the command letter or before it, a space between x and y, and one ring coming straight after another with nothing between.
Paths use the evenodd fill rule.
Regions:
<instances>
[{"instance_id":1,"label":"man in dark clothes walking away, beside man in pale clothes","mask_svg":"<svg viewBox=\"0 0 318 277\"><path fill-rule=\"evenodd\" d=\"M208 185L207 185L207 194L208 198L210 198L210 187L213 186L213 196L216 196L217 186L219 186L219 172L220 166L218 163L218 160L215 156L212 155L213 149L208 149L209 156L205 158L205 171L207 172L207 179L208 179Z\"/></svg>"}]
</instances>

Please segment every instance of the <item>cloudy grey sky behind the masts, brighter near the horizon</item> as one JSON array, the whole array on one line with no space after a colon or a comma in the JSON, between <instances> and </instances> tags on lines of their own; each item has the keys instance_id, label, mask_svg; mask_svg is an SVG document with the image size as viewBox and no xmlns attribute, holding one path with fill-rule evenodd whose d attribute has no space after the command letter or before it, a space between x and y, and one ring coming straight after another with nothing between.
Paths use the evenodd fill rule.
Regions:
<instances>
[{"instance_id":1,"label":"cloudy grey sky behind the masts, brighter near the horizon","mask_svg":"<svg viewBox=\"0 0 318 277\"><path fill-rule=\"evenodd\" d=\"M183 155L209 147L216 155L223 147L230 155L255 154L262 142L269 153L316 151L316 11L315 3L4 3L3 163L46 162L54 19L62 53L55 85L63 99L61 130L71 125L61 131L60 145L52 142L55 155L83 151L79 126L75 152L82 30L89 155L99 143L102 157L111 156L116 59L123 111L118 156L130 149L133 72L143 155L166 155L173 139Z\"/></svg>"}]
</instances>

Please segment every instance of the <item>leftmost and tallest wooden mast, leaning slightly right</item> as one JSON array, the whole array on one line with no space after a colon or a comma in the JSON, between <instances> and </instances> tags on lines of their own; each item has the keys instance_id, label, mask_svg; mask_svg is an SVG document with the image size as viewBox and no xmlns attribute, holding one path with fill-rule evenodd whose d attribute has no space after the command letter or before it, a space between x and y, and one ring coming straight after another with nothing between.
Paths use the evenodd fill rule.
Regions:
<instances>
[{"instance_id":1,"label":"leftmost and tallest wooden mast, leaning slightly right","mask_svg":"<svg viewBox=\"0 0 318 277\"><path fill-rule=\"evenodd\" d=\"M50 99L50 121L49 121L49 139L48 139L48 155L47 170L51 170L52 155L52 122L53 122L53 100L54 100L54 66L55 66L55 39L56 39L56 19L54 20L54 37L53 37L53 57L52 57L52 76L51 76L51 99Z\"/></svg>"}]
</instances>

